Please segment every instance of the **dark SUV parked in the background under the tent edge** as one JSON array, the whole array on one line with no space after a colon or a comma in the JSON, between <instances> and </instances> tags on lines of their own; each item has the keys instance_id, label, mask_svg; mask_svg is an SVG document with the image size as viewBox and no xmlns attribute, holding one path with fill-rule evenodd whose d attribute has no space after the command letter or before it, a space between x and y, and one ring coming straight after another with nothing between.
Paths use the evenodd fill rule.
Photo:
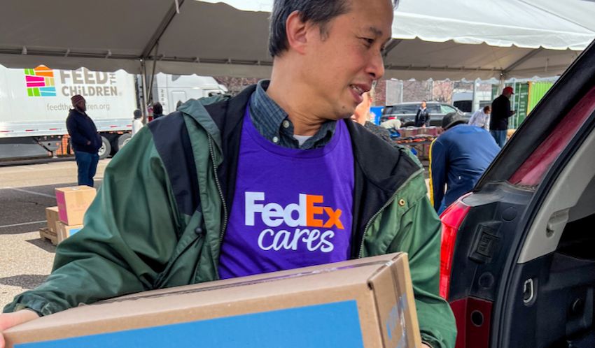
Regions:
<instances>
[{"instance_id":1,"label":"dark SUV parked in the background under the tent edge","mask_svg":"<svg viewBox=\"0 0 595 348\"><path fill-rule=\"evenodd\" d=\"M402 127L413 126L415 124L415 115L420 106L421 101L385 106L384 110L382 110L380 123L396 118L400 120ZM426 108L428 108L430 113L431 126L442 126L442 118L448 113L461 113L467 120L471 117L468 113L463 113L450 104L440 103L438 101L426 102Z\"/></svg>"}]
</instances>

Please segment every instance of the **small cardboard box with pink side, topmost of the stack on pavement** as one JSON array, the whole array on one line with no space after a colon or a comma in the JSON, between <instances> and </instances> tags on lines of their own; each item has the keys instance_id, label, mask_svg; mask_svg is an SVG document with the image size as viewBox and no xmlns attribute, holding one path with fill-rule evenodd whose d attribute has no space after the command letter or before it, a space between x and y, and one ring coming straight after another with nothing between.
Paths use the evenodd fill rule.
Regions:
<instances>
[{"instance_id":1,"label":"small cardboard box with pink side, topmost of the stack on pavement","mask_svg":"<svg viewBox=\"0 0 595 348\"><path fill-rule=\"evenodd\" d=\"M88 186L56 189L60 221L71 226L83 224L83 217L95 198L95 194L95 189Z\"/></svg>"}]
</instances>

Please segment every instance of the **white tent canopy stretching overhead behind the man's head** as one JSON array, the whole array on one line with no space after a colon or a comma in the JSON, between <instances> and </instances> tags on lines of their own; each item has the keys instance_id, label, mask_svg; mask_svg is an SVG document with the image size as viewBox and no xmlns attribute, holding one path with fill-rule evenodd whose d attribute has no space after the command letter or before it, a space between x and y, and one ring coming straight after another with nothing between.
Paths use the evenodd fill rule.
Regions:
<instances>
[{"instance_id":1,"label":"white tent canopy stretching overhead behind the man's head","mask_svg":"<svg viewBox=\"0 0 595 348\"><path fill-rule=\"evenodd\" d=\"M534 2L534 3L533 3ZM530 78L561 73L595 38L595 3L401 0L387 78ZM545 3L536 6L535 3ZM267 77L272 0L4 0L0 64ZM552 5L553 6L553 5ZM558 5L559 6L559 5ZM153 20L151 20L153 18Z\"/></svg>"}]
</instances>

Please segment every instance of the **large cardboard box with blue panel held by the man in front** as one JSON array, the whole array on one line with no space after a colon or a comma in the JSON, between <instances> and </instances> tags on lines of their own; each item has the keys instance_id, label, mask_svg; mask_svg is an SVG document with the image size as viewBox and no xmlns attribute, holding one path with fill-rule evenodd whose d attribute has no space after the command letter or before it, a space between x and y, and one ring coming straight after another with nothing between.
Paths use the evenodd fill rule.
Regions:
<instances>
[{"instance_id":1,"label":"large cardboard box with blue panel held by the man in front","mask_svg":"<svg viewBox=\"0 0 595 348\"><path fill-rule=\"evenodd\" d=\"M4 338L7 348L421 345L406 254L138 293L15 326Z\"/></svg>"}]
</instances>

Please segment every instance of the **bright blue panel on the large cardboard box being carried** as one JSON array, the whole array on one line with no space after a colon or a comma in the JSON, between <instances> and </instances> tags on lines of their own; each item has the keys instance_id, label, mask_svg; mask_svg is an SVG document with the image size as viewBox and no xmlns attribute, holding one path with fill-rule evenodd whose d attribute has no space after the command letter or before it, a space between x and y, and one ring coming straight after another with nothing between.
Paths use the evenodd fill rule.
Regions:
<instances>
[{"instance_id":1,"label":"bright blue panel on the large cardboard box being carried","mask_svg":"<svg viewBox=\"0 0 595 348\"><path fill-rule=\"evenodd\" d=\"M355 300L25 343L15 348L361 348Z\"/></svg>"}]
</instances>

